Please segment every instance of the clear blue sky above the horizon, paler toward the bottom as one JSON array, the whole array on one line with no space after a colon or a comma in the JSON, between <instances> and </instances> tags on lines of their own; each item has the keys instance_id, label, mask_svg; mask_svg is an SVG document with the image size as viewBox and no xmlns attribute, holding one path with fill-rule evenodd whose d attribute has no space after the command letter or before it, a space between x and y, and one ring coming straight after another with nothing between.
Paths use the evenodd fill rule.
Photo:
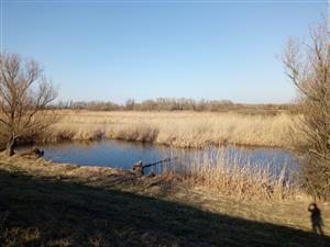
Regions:
<instances>
[{"instance_id":1,"label":"clear blue sky above the horizon, paler toward the bottom","mask_svg":"<svg viewBox=\"0 0 330 247\"><path fill-rule=\"evenodd\" d=\"M280 103L295 97L280 55L327 0L2 0L2 47L43 65L61 100L157 97Z\"/></svg>"}]
</instances>

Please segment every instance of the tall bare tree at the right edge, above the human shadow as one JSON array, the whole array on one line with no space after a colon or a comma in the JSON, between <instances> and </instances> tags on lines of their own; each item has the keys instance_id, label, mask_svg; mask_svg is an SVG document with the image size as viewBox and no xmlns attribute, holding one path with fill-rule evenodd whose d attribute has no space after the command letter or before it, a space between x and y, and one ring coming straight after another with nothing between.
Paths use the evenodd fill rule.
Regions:
<instances>
[{"instance_id":1,"label":"tall bare tree at the right edge, above the human shadow","mask_svg":"<svg viewBox=\"0 0 330 247\"><path fill-rule=\"evenodd\" d=\"M302 117L296 125L306 142L304 184L315 197L330 197L330 32L327 20L308 42L290 40L284 54L286 74L299 91Z\"/></svg>"}]
</instances>

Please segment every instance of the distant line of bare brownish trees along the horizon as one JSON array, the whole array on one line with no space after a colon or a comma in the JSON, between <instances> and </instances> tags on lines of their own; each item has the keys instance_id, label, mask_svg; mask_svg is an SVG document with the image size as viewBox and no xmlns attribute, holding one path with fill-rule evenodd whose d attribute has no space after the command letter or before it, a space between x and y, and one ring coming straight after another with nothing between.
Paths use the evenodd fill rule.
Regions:
<instances>
[{"instance_id":1,"label":"distant line of bare brownish trees along the horizon","mask_svg":"<svg viewBox=\"0 0 330 247\"><path fill-rule=\"evenodd\" d=\"M132 99L124 104L103 101L59 101L52 109L90 110L90 111L196 111L227 112L235 111L246 114L277 114L295 112L294 104L241 104L230 100L167 99L144 100L136 102Z\"/></svg>"}]
</instances>

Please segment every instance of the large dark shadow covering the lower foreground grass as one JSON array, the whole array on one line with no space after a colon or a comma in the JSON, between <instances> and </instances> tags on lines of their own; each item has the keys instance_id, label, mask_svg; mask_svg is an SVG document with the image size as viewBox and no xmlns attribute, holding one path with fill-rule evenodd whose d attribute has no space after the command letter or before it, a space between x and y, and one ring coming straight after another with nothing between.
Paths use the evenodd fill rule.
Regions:
<instances>
[{"instance_id":1,"label":"large dark shadow covering the lower foreground grass","mask_svg":"<svg viewBox=\"0 0 330 247\"><path fill-rule=\"evenodd\" d=\"M1 220L2 218L2 220ZM0 170L2 246L329 246L309 232Z\"/></svg>"}]
</instances>

